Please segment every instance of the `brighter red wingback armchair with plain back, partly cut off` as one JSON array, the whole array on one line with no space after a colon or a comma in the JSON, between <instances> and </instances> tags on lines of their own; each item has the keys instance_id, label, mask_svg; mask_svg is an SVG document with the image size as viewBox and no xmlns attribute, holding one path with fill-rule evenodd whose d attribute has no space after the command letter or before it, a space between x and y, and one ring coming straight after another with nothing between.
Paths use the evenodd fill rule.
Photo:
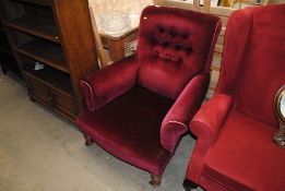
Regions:
<instances>
[{"instance_id":1,"label":"brighter red wingback armchair with plain back, partly cut off","mask_svg":"<svg viewBox=\"0 0 285 191\"><path fill-rule=\"evenodd\" d=\"M229 17L217 89L190 122L197 143L186 190L285 190L285 151L272 139L273 100L285 83L284 21L285 4Z\"/></svg>"}]
</instances>

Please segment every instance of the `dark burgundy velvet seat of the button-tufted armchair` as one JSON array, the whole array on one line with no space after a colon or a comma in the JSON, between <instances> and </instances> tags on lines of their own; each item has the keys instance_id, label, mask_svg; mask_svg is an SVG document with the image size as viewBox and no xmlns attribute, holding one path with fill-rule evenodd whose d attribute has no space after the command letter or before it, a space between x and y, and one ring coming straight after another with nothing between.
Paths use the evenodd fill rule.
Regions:
<instances>
[{"instance_id":1,"label":"dark burgundy velvet seat of the button-tufted armchair","mask_svg":"<svg viewBox=\"0 0 285 191\"><path fill-rule=\"evenodd\" d=\"M79 116L78 124L114 156L161 175L171 157L159 142L161 123L173 103L134 86L98 110Z\"/></svg>"}]
</instances>

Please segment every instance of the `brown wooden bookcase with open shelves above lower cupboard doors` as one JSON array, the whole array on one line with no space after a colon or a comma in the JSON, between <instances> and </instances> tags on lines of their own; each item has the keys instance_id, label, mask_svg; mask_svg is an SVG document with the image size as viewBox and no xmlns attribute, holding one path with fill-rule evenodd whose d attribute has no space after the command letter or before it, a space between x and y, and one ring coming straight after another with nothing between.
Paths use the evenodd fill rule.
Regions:
<instances>
[{"instance_id":1,"label":"brown wooden bookcase with open shelves above lower cupboard doors","mask_svg":"<svg viewBox=\"0 0 285 191\"><path fill-rule=\"evenodd\" d=\"M74 121L85 107L79 81L97 70L87 0L1 0L2 21L28 95ZM36 65L44 69L36 70Z\"/></svg>"}]
</instances>

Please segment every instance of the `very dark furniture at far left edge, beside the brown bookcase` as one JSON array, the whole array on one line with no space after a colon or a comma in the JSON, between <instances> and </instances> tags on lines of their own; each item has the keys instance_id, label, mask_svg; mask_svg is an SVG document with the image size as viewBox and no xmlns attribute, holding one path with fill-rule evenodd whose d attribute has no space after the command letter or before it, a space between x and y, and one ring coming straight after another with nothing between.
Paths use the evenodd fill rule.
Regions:
<instances>
[{"instance_id":1,"label":"very dark furniture at far left edge, beside the brown bookcase","mask_svg":"<svg viewBox=\"0 0 285 191\"><path fill-rule=\"evenodd\" d=\"M0 20L0 65L4 74L8 71L10 71L13 72L19 77L22 77L12 48L9 44L4 25L2 24L1 20Z\"/></svg>"}]
</instances>

